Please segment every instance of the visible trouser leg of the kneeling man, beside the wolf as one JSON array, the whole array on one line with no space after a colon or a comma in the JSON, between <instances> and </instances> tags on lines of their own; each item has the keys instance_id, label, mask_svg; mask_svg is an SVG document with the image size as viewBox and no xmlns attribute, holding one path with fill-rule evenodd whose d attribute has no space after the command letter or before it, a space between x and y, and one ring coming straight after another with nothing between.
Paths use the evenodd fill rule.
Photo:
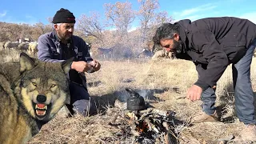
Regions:
<instances>
[{"instance_id":1,"label":"visible trouser leg of the kneeling man, beside the wolf","mask_svg":"<svg viewBox=\"0 0 256 144\"><path fill-rule=\"evenodd\" d=\"M70 82L70 104L67 105L71 114L74 111L86 116L97 113L95 103L91 100L88 90L74 82Z\"/></svg>"}]
</instances>

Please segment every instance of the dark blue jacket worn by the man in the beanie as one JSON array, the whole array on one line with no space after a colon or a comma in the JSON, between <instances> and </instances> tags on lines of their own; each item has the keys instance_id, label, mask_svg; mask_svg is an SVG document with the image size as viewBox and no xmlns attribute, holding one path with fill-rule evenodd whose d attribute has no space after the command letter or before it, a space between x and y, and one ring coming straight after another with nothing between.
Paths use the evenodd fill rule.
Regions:
<instances>
[{"instance_id":1,"label":"dark blue jacket worn by the man in the beanie","mask_svg":"<svg viewBox=\"0 0 256 144\"><path fill-rule=\"evenodd\" d=\"M68 45L58 39L55 31L42 34L38 38L38 59L45 62L63 62L74 57L74 61L90 62L90 47L78 36L72 36ZM70 70L70 81L86 87L86 77L83 73Z\"/></svg>"}]
</instances>

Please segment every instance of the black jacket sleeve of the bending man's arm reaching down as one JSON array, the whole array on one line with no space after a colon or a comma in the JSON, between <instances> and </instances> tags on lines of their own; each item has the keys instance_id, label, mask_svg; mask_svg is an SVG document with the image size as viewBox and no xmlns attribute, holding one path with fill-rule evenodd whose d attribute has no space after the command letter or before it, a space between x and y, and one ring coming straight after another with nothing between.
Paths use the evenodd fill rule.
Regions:
<instances>
[{"instance_id":1,"label":"black jacket sleeve of the bending man's arm reaching down","mask_svg":"<svg viewBox=\"0 0 256 144\"><path fill-rule=\"evenodd\" d=\"M210 31L198 31L192 35L191 40L195 49L199 50L198 52L208 62L205 69L197 67L199 77L198 81L194 83L202 87L202 90L206 90L218 82L230 62L214 34Z\"/></svg>"}]
</instances>

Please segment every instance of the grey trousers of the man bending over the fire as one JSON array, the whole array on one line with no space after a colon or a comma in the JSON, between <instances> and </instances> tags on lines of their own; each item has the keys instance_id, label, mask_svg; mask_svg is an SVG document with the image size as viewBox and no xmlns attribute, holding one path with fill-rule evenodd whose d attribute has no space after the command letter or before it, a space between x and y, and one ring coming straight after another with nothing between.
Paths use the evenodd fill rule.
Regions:
<instances>
[{"instance_id":1,"label":"grey trousers of the man bending over the fire","mask_svg":"<svg viewBox=\"0 0 256 144\"><path fill-rule=\"evenodd\" d=\"M246 51L246 55L232 65L234 100L237 116L245 124L256 124L254 112L254 92L250 82L250 64L253 58L256 39ZM215 90L208 88L202 93L202 110L214 114L216 107Z\"/></svg>"}]
</instances>

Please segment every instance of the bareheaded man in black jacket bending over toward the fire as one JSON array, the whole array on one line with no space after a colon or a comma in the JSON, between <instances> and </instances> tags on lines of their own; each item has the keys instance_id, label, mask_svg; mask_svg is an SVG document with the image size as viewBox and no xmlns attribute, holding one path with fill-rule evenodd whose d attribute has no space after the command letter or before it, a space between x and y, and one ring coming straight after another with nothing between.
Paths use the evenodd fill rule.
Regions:
<instances>
[{"instance_id":1,"label":"bareheaded man in black jacket bending over toward the fire","mask_svg":"<svg viewBox=\"0 0 256 144\"><path fill-rule=\"evenodd\" d=\"M250 65L256 46L253 22L222 17L164 23L158 27L153 41L174 53L176 58L194 62L198 81L187 90L186 98L203 102L203 112L192 118L194 123L219 120L214 106L216 83L232 64L236 112L245 124L241 135L245 140L256 141L254 93L250 82Z\"/></svg>"}]
</instances>

